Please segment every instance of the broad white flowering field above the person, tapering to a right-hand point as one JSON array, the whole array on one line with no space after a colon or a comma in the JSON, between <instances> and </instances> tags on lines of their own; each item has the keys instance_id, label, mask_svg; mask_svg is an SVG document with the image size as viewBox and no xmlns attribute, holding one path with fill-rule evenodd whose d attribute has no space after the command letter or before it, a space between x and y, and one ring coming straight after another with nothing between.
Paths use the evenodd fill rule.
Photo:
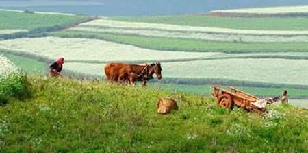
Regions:
<instances>
[{"instance_id":1,"label":"broad white flowering field above the person, tapering to a right-hand point","mask_svg":"<svg viewBox=\"0 0 308 153\"><path fill-rule=\"evenodd\" d=\"M184 51L157 51L142 49L104 40L85 38L20 38L0 41L1 49L23 51L27 54L56 59L64 56L67 61L112 62L112 61L159 61L205 58L221 53L196 53Z\"/></svg>"}]
</instances>

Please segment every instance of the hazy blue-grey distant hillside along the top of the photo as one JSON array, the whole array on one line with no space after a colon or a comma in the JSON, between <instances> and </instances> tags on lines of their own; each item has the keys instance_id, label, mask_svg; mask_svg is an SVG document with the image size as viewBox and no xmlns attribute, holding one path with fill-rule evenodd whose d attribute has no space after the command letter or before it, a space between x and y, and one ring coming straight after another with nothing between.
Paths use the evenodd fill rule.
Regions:
<instances>
[{"instance_id":1,"label":"hazy blue-grey distant hillside along the top of the photo","mask_svg":"<svg viewBox=\"0 0 308 153\"><path fill-rule=\"evenodd\" d=\"M210 12L235 8L256 8L283 5L308 5L308 1L297 0L90 0L90 1L0 1L0 8L87 14L91 16L166 16Z\"/></svg>"}]
</instances>

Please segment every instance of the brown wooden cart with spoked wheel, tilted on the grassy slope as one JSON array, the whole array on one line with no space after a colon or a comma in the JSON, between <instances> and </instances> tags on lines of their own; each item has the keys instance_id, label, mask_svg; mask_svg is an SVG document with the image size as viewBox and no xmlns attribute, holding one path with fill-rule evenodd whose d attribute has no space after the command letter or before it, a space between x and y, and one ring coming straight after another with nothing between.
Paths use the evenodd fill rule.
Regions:
<instances>
[{"instance_id":1,"label":"brown wooden cart with spoked wheel, tilted on the grassy slope","mask_svg":"<svg viewBox=\"0 0 308 153\"><path fill-rule=\"evenodd\" d=\"M230 91L220 88L219 86L213 86L214 91L211 93L214 97L217 97L217 104L222 108L233 108L233 106L240 106L246 110L257 110L263 112L264 110L253 106L253 103L259 100L259 97L255 97L251 94L244 93L232 86L228 86Z\"/></svg>"}]
</instances>

